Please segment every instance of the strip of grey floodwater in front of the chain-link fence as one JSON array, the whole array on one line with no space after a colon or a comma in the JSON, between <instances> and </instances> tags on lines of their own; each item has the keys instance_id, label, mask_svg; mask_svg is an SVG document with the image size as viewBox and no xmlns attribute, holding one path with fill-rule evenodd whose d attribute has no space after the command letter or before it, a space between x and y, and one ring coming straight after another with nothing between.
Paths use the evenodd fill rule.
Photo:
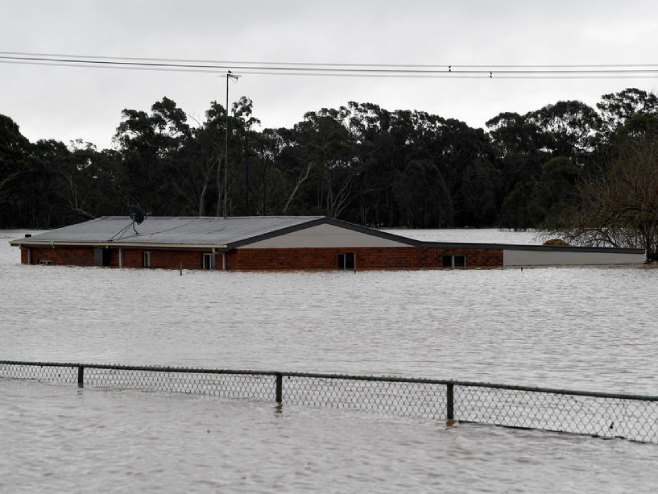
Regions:
<instances>
[{"instance_id":1,"label":"strip of grey floodwater in front of the chain-link fence","mask_svg":"<svg viewBox=\"0 0 658 494\"><path fill-rule=\"evenodd\" d=\"M0 491L655 492L658 447L0 382Z\"/></svg>"}]
</instances>

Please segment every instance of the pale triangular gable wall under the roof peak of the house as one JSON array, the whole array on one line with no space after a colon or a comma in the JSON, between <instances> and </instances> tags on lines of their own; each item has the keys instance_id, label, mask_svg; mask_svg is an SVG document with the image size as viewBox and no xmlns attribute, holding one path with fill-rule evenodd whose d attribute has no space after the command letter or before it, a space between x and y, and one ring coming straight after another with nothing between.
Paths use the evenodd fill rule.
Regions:
<instances>
[{"instance_id":1,"label":"pale triangular gable wall under the roof peak of the house","mask_svg":"<svg viewBox=\"0 0 658 494\"><path fill-rule=\"evenodd\" d=\"M299 249L322 247L409 247L409 245L335 225L323 224L247 244L241 248Z\"/></svg>"}]
</instances>

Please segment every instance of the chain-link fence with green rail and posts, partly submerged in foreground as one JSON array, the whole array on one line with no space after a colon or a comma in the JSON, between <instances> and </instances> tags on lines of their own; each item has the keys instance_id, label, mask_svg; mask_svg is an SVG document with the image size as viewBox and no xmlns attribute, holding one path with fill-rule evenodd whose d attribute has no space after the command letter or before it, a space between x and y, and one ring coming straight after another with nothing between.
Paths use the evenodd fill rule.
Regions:
<instances>
[{"instance_id":1,"label":"chain-link fence with green rail and posts, partly submerged in foreground","mask_svg":"<svg viewBox=\"0 0 658 494\"><path fill-rule=\"evenodd\" d=\"M0 378L333 407L658 444L658 396L463 381L0 361Z\"/></svg>"}]
</instances>

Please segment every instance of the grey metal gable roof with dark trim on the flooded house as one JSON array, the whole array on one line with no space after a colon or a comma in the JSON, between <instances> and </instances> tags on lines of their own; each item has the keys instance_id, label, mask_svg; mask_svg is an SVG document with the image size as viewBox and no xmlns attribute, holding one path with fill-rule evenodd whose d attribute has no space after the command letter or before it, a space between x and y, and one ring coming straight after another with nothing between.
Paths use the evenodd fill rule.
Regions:
<instances>
[{"instance_id":1,"label":"grey metal gable roof with dark trim on the flooded house","mask_svg":"<svg viewBox=\"0 0 658 494\"><path fill-rule=\"evenodd\" d=\"M285 235L320 224L395 240L408 245L419 242L324 216L248 217L148 217L134 225L127 216L103 216L95 220L13 240L11 245L89 245L216 248L228 250Z\"/></svg>"}]
</instances>

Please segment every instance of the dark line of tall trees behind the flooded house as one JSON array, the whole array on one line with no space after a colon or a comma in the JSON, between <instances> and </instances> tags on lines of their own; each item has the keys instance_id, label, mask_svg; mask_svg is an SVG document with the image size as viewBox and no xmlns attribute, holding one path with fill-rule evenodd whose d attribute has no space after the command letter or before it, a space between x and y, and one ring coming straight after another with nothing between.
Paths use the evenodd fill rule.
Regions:
<instances>
[{"instance_id":1,"label":"dark line of tall trees behind the flooded house","mask_svg":"<svg viewBox=\"0 0 658 494\"><path fill-rule=\"evenodd\" d=\"M603 177L615 136L658 113L629 88L596 108L560 101L501 113L486 130L422 111L350 102L292 128L258 130L252 102L211 103L191 122L163 98L124 110L113 149L29 142L0 115L0 228L52 228L137 205L151 215L327 215L381 227L536 228ZM228 170L227 197L224 173Z\"/></svg>"}]
</instances>

